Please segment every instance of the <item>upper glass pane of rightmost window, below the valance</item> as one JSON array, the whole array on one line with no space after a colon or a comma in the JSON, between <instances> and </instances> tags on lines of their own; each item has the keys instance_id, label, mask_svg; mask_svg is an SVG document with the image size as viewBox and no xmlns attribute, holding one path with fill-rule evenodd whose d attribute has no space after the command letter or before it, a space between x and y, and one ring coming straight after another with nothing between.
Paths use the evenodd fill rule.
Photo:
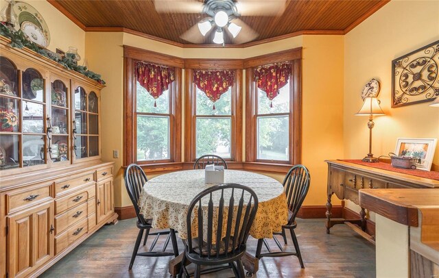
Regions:
<instances>
[{"instance_id":1,"label":"upper glass pane of rightmost window, below the valance","mask_svg":"<svg viewBox=\"0 0 439 278\"><path fill-rule=\"evenodd\" d=\"M270 108L272 103L273 107ZM272 100L258 88L258 114L288 113L289 112L289 82L279 90L279 94Z\"/></svg>"}]
</instances>

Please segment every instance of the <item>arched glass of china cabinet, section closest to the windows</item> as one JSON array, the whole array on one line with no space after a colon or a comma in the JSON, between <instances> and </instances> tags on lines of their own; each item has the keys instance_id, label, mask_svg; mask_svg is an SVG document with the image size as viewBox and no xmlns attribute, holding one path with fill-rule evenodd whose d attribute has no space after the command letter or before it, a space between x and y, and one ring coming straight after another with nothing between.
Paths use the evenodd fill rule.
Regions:
<instances>
[{"instance_id":1,"label":"arched glass of china cabinet, section closest to the windows","mask_svg":"<svg viewBox=\"0 0 439 278\"><path fill-rule=\"evenodd\" d=\"M82 87L75 89L74 120L75 158L99 155L99 114L95 92L86 92Z\"/></svg>"}]
</instances>

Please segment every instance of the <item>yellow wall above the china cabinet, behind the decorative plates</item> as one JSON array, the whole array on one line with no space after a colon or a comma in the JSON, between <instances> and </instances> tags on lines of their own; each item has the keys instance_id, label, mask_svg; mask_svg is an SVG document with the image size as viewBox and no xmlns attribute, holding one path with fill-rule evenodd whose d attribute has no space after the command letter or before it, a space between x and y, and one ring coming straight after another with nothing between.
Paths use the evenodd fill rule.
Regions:
<instances>
[{"instance_id":1,"label":"yellow wall above the china cabinet, behind the decorative plates","mask_svg":"<svg viewBox=\"0 0 439 278\"><path fill-rule=\"evenodd\" d=\"M32 5L46 21L50 33L50 42L47 49L55 52L57 48L62 51L68 51L69 47L76 47L78 48L78 54L82 58L80 60L82 65L85 55L85 31L47 1L26 0L23 2ZM1 0L0 9L6 4L6 1Z\"/></svg>"}]
</instances>

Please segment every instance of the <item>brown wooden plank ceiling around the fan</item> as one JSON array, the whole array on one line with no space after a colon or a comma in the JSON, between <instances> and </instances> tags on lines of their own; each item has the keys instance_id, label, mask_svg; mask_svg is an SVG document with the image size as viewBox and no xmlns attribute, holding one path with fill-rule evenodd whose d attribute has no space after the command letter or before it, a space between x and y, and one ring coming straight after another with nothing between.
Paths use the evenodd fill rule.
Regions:
<instances>
[{"instance_id":1,"label":"brown wooden plank ceiling around the fan","mask_svg":"<svg viewBox=\"0 0 439 278\"><path fill-rule=\"evenodd\" d=\"M124 27L188 45L180 35L198 23L203 14L158 13L147 0L49 0L85 27ZM238 0L239 1L239 0ZM375 12L385 0L291 0L281 16L241 16L266 40L298 31L334 31L344 34ZM83 27L84 27L83 26ZM213 33L213 32L212 32ZM212 43L206 36L206 44ZM230 44L226 38L226 44Z\"/></svg>"}]
</instances>

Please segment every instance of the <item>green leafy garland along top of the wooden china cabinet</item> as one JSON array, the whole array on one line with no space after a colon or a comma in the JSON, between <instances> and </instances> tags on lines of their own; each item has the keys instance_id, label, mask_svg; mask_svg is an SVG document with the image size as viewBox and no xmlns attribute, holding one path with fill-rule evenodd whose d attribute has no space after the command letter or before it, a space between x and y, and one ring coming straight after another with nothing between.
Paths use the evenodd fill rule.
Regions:
<instances>
[{"instance_id":1,"label":"green leafy garland along top of the wooden china cabinet","mask_svg":"<svg viewBox=\"0 0 439 278\"><path fill-rule=\"evenodd\" d=\"M28 49L35 51L36 53L43 55L50 60L54 60L58 64L64 66L64 68L68 68L69 70L76 71L82 75L85 75L88 78L91 78L100 84L105 84L105 81L101 79L101 75L97 73L93 73L93 71L89 71L86 66L78 66L75 63L75 55L66 53L63 57L58 53L54 53L48 49L40 47L35 42L32 42L27 39L26 34L23 31L12 31L8 27L6 27L3 23L0 24L0 35L11 40L11 47L22 49L23 47L27 47Z\"/></svg>"}]
</instances>

